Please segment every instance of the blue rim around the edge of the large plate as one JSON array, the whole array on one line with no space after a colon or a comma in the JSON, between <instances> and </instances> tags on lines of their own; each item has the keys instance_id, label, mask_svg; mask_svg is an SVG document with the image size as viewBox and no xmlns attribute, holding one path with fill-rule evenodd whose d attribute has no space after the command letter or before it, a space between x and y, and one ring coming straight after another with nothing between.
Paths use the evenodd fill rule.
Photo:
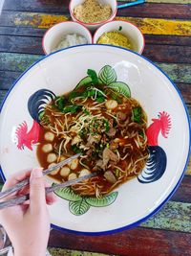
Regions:
<instances>
[{"instance_id":1,"label":"blue rim around the edge of the large plate","mask_svg":"<svg viewBox=\"0 0 191 256\"><path fill-rule=\"evenodd\" d=\"M54 225L54 224L51 224L51 227L53 229L56 229L58 231L62 231L62 232L69 232L69 233L72 233L72 234L78 234L78 235L86 235L86 236L101 236L101 235L110 235L110 234L115 234L117 232L121 232L121 231L124 231L124 230L128 230L130 228L133 228L133 227L136 227L138 226L138 224L140 224L141 222L143 221L146 221L148 220L149 218L151 218L152 216L154 216L155 214L157 214L159 212L159 209L174 195L174 193L176 192L176 190L178 189L179 185L180 185L180 181L182 180L184 174L185 174L185 171L187 169L187 166L188 166L188 161L189 161L189 155L190 155L190 152L191 152L191 122L190 122L190 118L189 118L189 113L188 113L188 109L187 109L187 106L185 105L184 103L184 100L180 94L180 90L178 89L177 85L154 63L152 62L150 59L148 58L145 58L144 56L142 55L139 55L138 53L136 52L133 52L131 50L128 50L128 49L125 49L125 48L122 48L122 47L118 47L118 46L114 46L114 45L109 45L109 44L82 44L82 45L74 45L74 46L71 46L71 47L68 47L68 48L65 48L65 49L61 49L61 50L58 50L56 52L53 52L52 54L50 55L47 55L47 56L42 56L42 58L39 58L37 61L35 61L28 69L26 69L26 71L24 71L17 79L16 81L13 82L13 84L11 85L11 88L10 90L8 91L8 93L6 94L6 97L4 98L2 104L0 105L0 113L3 109L3 105L6 103L10 93L11 93L11 90L12 88L16 85L16 83L30 70L32 69L32 67L34 65L36 65L38 62L44 60L45 58L49 58L50 56L53 56L54 54L56 53L59 53L59 52L63 52L63 51L66 51L68 49L72 49L72 48L79 48L79 47L84 47L84 46L88 46L88 47L99 47L99 46L104 46L104 47L110 47L110 48L117 48L117 49L120 49L120 50L123 50L125 52L130 52L134 55L137 55L138 57L140 58L143 58L145 59L146 61L148 61L150 64L152 64L154 67L156 67L170 82L171 84L174 86L174 88L176 89L178 95L180 96L180 101L181 101L181 104L183 105L184 107L184 110L185 110L185 114L186 114L186 117L187 117L187 122L188 122L188 135L189 135L189 146L188 146L188 154L187 154L187 158L186 158L186 162L185 162L185 166L183 168L183 171L182 171L182 174L180 175L180 179L179 181L177 182L177 184L175 185L174 189L171 191L171 193L159 204L159 206L150 214L148 214L147 216L145 216L144 218L138 220L138 221L135 221L131 224L128 224L128 225L125 225L125 226L122 226L122 227L119 227L119 228L116 228L116 229L111 229L111 230L107 230L107 231L99 231L99 232L86 232L86 231L76 231L76 230L72 230L72 229L67 229L67 228L64 228L64 227L60 227L58 225ZM6 177L5 175L3 174L3 170L0 166L0 175L2 176L4 182L6 181Z\"/></svg>"}]
</instances>

